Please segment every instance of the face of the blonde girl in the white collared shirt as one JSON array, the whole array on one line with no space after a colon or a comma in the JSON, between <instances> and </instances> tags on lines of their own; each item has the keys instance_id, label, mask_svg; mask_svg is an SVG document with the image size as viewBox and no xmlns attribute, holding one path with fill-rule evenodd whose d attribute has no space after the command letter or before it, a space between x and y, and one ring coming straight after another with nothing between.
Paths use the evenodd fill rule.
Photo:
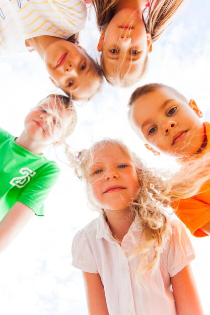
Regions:
<instances>
[{"instance_id":1,"label":"face of the blonde girl in the white collared shirt","mask_svg":"<svg viewBox=\"0 0 210 315\"><path fill-rule=\"evenodd\" d=\"M128 207L139 188L128 154L114 144L105 144L94 153L89 183L95 203L105 211Z\"/></svg>"}]
</instances>

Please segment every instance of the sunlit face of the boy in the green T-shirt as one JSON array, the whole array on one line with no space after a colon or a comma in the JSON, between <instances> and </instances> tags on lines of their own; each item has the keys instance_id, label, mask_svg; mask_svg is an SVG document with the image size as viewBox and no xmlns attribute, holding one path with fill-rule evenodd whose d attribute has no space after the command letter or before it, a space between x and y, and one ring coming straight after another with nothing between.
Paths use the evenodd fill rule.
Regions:
<instances>
[{"instance_id":1,"label":"sunlit face of the boy in the green T-shirt","mask_svg":"<svg viewBox=\"0 0 210 315\"><path fill-rule=\"evenodd\" d=\"M65 109L53 97L42 100L25 118L25 133L32 141L49 145L61 140L66 118Z\"/></svg>"}]
</instances>

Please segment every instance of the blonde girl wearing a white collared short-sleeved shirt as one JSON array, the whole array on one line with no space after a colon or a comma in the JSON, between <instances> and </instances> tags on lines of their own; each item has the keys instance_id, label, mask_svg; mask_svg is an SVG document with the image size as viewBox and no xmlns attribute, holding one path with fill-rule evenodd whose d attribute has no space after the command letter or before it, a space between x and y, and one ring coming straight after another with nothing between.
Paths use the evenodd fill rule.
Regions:
<instances>
[{"instance_id":1,"label":"blonde girl wearing a white collared short-sleeved shirt","mask_svg":"<svg viewBox=\"0 0 210 315\"><path fill-rule=\"evenodd\" d=\"M100 211L76 234L72 249L73 266L83 271L89 313L203 314L189 267L194 252L188 235L164 208L168 198L187 195L181 180L180 191L168 189L169 183L114 140L82 151L77 172L91 206Z\"/></svg>"}]
</instances>

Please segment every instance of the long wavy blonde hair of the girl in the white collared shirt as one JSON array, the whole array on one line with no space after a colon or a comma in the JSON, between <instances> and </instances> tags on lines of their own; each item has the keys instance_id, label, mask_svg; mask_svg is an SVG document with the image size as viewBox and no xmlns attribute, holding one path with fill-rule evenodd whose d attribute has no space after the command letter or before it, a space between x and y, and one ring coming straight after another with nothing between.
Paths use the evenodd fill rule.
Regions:
<instances>
[{"instance_id":1,"label":"long wavy blonde hair of the girl in the white collared shirt","mask_svg":"<svg viewBox=\"0 0 210 315\"><path fill-rule=\"evenodd\" d=\"M167 207L175 200L194 195L202 184L210 179L209 156L202 160L201 167L198 168L196 161L191 162L184 171L169 177L168 174L157 173L155 169L148 169L143 161L120 141L106 139L95 143L90 149L79 153L75 162L75 172L81 180L86 182L90 206L102 212L103 209L91 198L89 178L96 154L108 144L123 149L133 163L138 176L139 191L137 197L130 203L130 218L135 217L139 221L143 232L141 240L136 244L135 250L130 253L130 257L140 255L136 275L141 278L145 271L152 271L159 264L160 255L170 237L171 224Z\"/></svg>"}]
</instances>

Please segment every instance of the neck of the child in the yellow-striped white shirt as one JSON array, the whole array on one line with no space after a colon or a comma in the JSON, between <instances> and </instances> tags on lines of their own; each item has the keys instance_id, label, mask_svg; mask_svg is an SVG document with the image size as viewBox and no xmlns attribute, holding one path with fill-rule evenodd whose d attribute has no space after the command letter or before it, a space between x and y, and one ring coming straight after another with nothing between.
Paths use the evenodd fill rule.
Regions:
<instances>
[{"instance_id":1,"label":"neck of the child in the yellow-striped white shirt","mask_svg":"<svg viewBox=\"0 0 210 315\"><path fill-rule=\"evenodd\" d=\"M50 44L56 42L57 40L60 40L60 38L49 35L42 35L27 39L26 46L33 47L34 50L36 50L36 52L44 60L45 50Z\"/></svg>"}]
</instances>

